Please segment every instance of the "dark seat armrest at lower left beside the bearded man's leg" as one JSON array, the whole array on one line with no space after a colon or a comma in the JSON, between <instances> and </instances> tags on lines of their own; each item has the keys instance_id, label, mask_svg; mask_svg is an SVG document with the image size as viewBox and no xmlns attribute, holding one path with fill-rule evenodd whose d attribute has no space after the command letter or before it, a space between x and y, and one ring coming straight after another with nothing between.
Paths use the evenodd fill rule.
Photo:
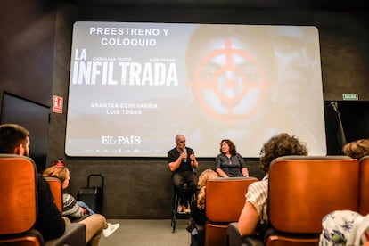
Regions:
<instances>
[{"instance_id":1,"label":"dark seat armrest at lower left beside the bearded man's leg","mask_svg":"<svg viewBox=\"0 0 369 246\"><path fill-rule=\"evenodd\" d=\"M61 237L45 242L45 246L86 245L86 225L71 223Z\"/></svg>"}]
</instances>

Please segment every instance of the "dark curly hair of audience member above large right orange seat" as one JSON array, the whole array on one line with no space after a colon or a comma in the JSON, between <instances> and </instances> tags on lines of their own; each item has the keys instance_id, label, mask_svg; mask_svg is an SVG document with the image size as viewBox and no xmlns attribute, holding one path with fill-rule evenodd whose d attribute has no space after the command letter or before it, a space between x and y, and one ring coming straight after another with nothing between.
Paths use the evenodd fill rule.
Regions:
<instances>
[{"instance_id":1,"label":"dark curly hair of audience member above large right orange seat","mask_svg":"<svg viewBox=\"0 0 369 246\"><path fill-rule=\"evenodd\" d=\"M267 173L272 160L285 155L307 155L307 146L300 143L294 135L286 133L275 135L264 143L261 149L259 168Z\"/></svg>"}]
</instances>

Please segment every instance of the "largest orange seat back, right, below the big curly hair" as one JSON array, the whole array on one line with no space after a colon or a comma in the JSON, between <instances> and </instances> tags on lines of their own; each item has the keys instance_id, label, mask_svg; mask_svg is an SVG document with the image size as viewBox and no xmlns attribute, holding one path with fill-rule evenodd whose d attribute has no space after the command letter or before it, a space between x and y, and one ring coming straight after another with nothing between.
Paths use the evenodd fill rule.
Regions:
<instances>
[{"instance_id":1,"label":"largest orange seat back, right, below the big curly hair","mask_svg":"<svg viewBox=\"0 0 369 246\"><path fill-rule=\"evenodd\" d=\"M358 171L358 161L347 156L285 156L272 161L268 216L270 225L284 236L269 237L267 245L319 242L325 215L336 209L357 211Z\"/></svg>"}]
</instances>

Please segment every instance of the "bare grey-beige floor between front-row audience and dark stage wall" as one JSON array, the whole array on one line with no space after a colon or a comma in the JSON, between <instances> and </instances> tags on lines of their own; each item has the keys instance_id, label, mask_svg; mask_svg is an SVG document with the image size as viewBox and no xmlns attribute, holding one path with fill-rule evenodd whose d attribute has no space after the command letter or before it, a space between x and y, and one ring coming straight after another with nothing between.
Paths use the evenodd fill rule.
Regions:
<instances>
[{"instance_id":1,"label":"bare grey-beige floor between front-row audience and dark stage wall","mask_svg":"<svg viewBox=\"0 0 369 246\"><path fill-rule=\"evenodd\" d=\"M176 233L172 233L170 219L108 219L120 223L119 229L107 238L101 246L189 246L191 235L185 230L188 219L177 219Z\"/></svg>"}]
</instances>

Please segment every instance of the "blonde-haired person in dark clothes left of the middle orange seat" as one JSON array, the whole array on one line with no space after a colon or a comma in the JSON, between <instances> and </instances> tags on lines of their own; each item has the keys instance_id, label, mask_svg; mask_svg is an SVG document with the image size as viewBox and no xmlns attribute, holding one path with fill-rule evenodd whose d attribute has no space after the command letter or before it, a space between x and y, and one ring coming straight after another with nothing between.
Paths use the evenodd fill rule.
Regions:
<instances>
[{"instance_id":1,"label":"blonde-haired person in dark clothes left of the middle orange seat","mask_svg":"<svg viewBox=\"0 0 369 246\"><path fill-rule=\"evenodd\" d=\"M197 182L198 192L196 198L191 201L191 224L189 231L191 233L191 245L200 246L204 244L205 234L202 227L208 220L205 212L206 184L210 179L216 178L217 172L212 169L206 169L201 172Z\"/></svg>"}]
</instances>

